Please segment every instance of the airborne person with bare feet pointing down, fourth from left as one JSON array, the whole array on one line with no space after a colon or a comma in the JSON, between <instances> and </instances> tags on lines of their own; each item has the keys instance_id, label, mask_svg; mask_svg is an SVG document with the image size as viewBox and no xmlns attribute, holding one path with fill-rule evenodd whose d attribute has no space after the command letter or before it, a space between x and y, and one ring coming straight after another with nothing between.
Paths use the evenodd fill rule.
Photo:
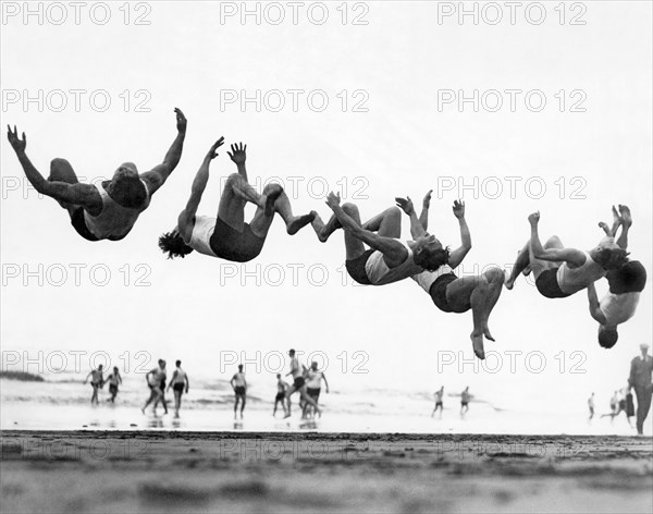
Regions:
<instances>
[{"instance_id":1,"label":"airborne person with bare feet pointing down, fourth from left","mask_svg":"<svg viewBox=\"0 0 653 514\"><path fill-rule=\"evenodd\" d=\"M428 235L429 207L431 204L431 192L423 199L422 212L419 218L409 197L395 198L397 205L410 218L410 233L412 237L419 238ZM488 321L490 313L496 305L504 282L504 273L501 268L492 266L480 276L458 278L454 273L471 249L471 235L467 221L465 220L465 203L454 201L454 216L460 225L460 246L447 254L447 260L436 271L422 271L415 274L415 280L423 289L435 306L444 313L466 313L471 309L473 330L470 334L473 353L477 357L484 359L485 350L483 336L490 341L494 338L490 333Z\"/></svg>"}]
</instances>

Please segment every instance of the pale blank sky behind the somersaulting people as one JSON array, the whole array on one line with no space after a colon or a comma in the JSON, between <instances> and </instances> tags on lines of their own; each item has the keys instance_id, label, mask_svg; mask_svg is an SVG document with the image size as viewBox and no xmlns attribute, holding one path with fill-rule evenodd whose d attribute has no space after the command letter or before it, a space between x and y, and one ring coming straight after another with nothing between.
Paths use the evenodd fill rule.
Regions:
<instances>
[{"instance_id":1,"label":"pale blank sky behind the somersaulting people","mask_svg":"<svg viewBox=\"0 0 653 514\"><path fill-rule=\"evenodd\" d=\"M7 3L22 9L22 2L5 2L3 9ZM222 3L223 14L242 8ZM520 279L514 291L504 290L490 319L496 342L485 348L500 352L504 364L505 352L540 351L544 372L530 372L518 359L515 372L473 374L468 366L460 374L451 366L440 375L439 352L463 351L471 358L471 314L439 311L408 280L343 286L341 233L320 244L310 228L289 237L278 220L260 257L244 268L197 253L170 261L157 247L159 234L174 227L207 149L224 135L227 144L248 144L252 184L260 187L271 176L284 181L296 212L316 209L326 217L326 188L356 201L364 218L393 205L398 195L419 205L433 188L430 231L457 246L451 205L463 197L473 242L461 268L467 273L491 264L510 266L529 236L527 216L533 210L541 211L543 238L557 234L569 246L590 249L601 237L597 221L609 221L612 204L626 204L634 218L631 257L651 274L651 4L583 2L587 11L567 12L560 25L557 3L545 3L540 25L519 12L510 25L507 8L496 25L486 23L488 11L478 25L468 19L459 24L456 16L439 24L442 2L349 3L345 25L340 2L324 4L329 19L322 25L304 11L293 24L284 2L279 5L286 19L279 25L270 23L278 13L264 11L264 3L259 3L258 25L254 17L241 23L237 14L221 24L219 2L143 3L149 12L133 4L127 25L119 4L111 4L104 25L85 11L76 25L73 8L61 25L52 23L60 19L54 11L44 11L42 24L36 17L25 24L22 13L3 17L2 126L15 123L25 131L27 155L42 174L54 157L69 159L88 181L109 178L127 160L146 171L161 161L175 136L173 108L188 118L178 167L119 243L86 242L52 199L23 189L23 171L3 140L3 352L101 350L116 358L146 351L152 359L182 358L196 375L229 378L234 366L221 374L220 352L254 356L296 347L324 352L334 388L469 384L493 397L522 390L565 408L578 402L582 408L591 391L607 397L625 384L639 344L651 342L649 284L637 315L620 327L617 345L605 351L596 342L586 292L553 301ZM313 20L320 14L311 12ZM100 14L95 12L96 20ZM138 14L150 24L134 25ZM572 15L586 24L570 25ZM356 16L367 25L353 25ZM78 112L70 93L75 89L84 91ZM475 112L469 102L463 109L455 101L439 102L447 98L445 90L471 97L475 89L479 97L485 94L489 109L496 95L486 91L500 91L503 108L489 112L481 105ZM521 91L514 112L505 93L513 89ZM40 106L24 105L39 90ZM106 93L96 93L94 108L89 97L98 90ZM224 102L233 91L255 97L257 90L267 99L260 112L254 102L244 109L238 101ZM279 101L274 90L286 101L280 112L272 112ZM303 91L296 112L288 90ZM532 90L540 91L535 107L537 98L546 99L541 112L525 105ZM308 106L311 93L313 107L329 98L322 112ZM99 112L104 97L111 105ZM140 101L149 112L136 112ZM355 106L367 112L354 112ZM570 112L572 106L586 111ZM225 147L212 163L200 212L214 215L220 178L234 171ZM470 187L458 191L452 184L459 181ZM546 189L539 195L541 184ZM404 230L408 237L407 220ZM38 277L23 274L28 267L38 276L39 265L40 286ZM94 266L100 271L90 277ZM95 285L94 280L103 280L102 270L110 272L108 284ZM324 271L325 283L319 285ZM150 285L136 286L144 276ZM596 287L601 296L607 283ZM367 353L369 374L340 370L343 357L337 356L347 352L352 359L356 351ZM566 352L563 374L560 351ZM570 359L571 352L582 352L586 374L569 372L578 362ZM250 380L269 380L248 366Z\"/></svg>"}]
</instances>

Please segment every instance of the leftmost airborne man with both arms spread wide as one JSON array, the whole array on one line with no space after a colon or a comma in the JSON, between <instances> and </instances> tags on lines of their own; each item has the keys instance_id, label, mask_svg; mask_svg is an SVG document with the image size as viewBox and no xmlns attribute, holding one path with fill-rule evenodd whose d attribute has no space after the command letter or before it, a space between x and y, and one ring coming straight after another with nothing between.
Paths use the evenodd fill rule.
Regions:
<instances>
[{"instance_id":1,"label":"leftmost airborne man with both arms spread wide","mask_svg":"<svg viewBox=\"0 0 653 514\"><path fill-rule=\"evenodd\" d=\"M163 185L182 157L186 136L186 118L175 109L177 136L163 162L152 170L138 173L133 162L122 163L110 181L99 185L82 184L65 159L52 159L50 176L46 180L25 154L27 138L19 138L14 126L8 126L9 143L34 188L59 201L67 210L77 233L88 241L120 241L125 237L138 216L149 207L152 195Z\"/></svg>"}]
</instances>

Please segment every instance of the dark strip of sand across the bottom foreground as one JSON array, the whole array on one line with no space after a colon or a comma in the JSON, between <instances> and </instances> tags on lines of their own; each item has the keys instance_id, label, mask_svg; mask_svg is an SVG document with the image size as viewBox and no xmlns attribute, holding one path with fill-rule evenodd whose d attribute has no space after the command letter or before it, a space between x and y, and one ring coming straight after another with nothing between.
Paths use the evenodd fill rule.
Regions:
<instances>
[{"instance_id":1,"label":"dark strip of sand across the bottom foreground","mask_svg":"<svg viewBox=\"0 0 653 514\"><path fill-rule=\"evenodd\" d=\"M653 440L1 432L1 512L649 512Z\"/></svg>"}]
</instances>

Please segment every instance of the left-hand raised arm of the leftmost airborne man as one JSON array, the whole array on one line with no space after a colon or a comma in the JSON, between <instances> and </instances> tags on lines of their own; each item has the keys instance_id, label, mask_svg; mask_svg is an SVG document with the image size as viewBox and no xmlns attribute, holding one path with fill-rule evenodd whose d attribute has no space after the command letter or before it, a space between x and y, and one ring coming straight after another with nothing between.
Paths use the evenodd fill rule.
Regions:
<instances>
[{"instance_id":1,"label":"left-hand raised arm of the leftmost airborne man","mask_svg":"<svg viewBox=\"0 0 653 514\"><path fill-rule=\"evenodd\" d=\"M23 132L23 138L21 139L15 125L13 131L9 125L7 125L7 138L16 152L19 162L25 171L25 176L27 176L29 183L38 193L67 204L81 205L90 210L102 206L102 198L93 185L81 183L69 184L67 182L46 180L34 167L27 154L25 154L25 148L27 147L27 136L25 136L25 133Z\"/></svg>"}]
</instances>

